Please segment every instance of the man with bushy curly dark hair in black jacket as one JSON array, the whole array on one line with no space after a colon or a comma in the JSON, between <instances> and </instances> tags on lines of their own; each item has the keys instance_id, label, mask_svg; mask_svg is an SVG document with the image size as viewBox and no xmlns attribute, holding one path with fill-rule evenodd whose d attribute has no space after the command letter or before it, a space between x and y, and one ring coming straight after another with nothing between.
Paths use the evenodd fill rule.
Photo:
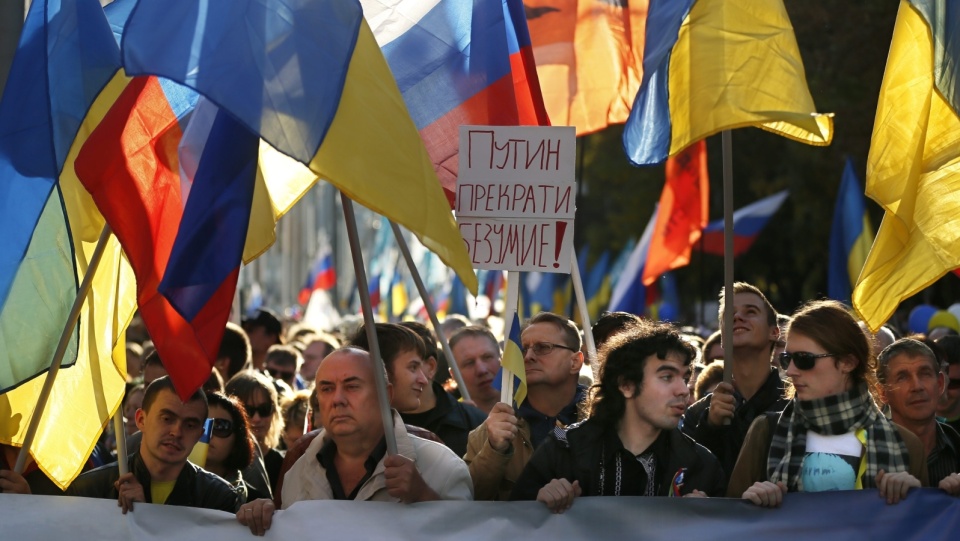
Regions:
<instances>
[{"instance_id":1,"label":"man with bushy curly dark hair in black jacket","mask_svg":"<svg viewBox=\"0 0 960 541\"><path fill-rule=\"evenodd\" d=\"M590 417L555 431L537 449L511 499L536 499L562 513L580 495L723 494L726 479L717 459L677 428L695 355L670 325L610 338L600 351Z\"/></svg>"}]
</instances>

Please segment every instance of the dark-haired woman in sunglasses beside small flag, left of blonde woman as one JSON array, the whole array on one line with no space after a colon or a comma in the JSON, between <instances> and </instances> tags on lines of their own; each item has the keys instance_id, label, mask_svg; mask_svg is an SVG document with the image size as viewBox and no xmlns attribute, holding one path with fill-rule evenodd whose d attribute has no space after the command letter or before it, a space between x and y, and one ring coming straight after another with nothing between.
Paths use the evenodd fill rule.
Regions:
<instances>
[{"instance_id":1,"label":"dark-haired woman in sunglasses beside small flag, left of blonde woman","mask_svg":"<svg viewBox=\"0 0 960 541\"><path fill-rule=\"evenodd\" d=\"M205 469L226 479L244 501L268 497L247 484L241 473L253 462L254 451L247 414L240 401L212 392L207 394L207 402L210 404L207 416L213 419L213 435Z\"/></svg>"}]
</instances>

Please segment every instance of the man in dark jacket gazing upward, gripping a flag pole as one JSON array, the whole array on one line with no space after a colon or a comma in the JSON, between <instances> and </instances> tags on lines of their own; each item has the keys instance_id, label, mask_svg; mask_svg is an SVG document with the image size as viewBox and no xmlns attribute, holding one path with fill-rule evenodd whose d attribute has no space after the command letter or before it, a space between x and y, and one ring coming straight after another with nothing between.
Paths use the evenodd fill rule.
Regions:
<instances>
[{"instance_id":1,"label":"man in dark jacket gazing upward, gripping a flag pole","mask_svg":"<svg viewBox=\"0 0 960 541\"><path fill-rule=\"evenodd\" d=\"M720 324L725 295L720 291ZM756 286L733 284L733 382L720 383L713 393L687 409L680 428L720 460L729 474L753 420L767 411L782 411L780 371L771 354L780 338L777 311ZM725 346L724 346L725 347Z\"/></svg>"}]
</instances>

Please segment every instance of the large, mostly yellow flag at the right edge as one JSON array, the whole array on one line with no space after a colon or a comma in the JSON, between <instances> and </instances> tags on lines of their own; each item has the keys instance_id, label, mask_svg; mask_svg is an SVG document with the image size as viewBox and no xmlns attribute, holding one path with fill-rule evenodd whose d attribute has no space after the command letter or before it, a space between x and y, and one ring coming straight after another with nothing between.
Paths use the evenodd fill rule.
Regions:
<instances>
[{"instance_id":1,"label":"large, mostly yellow flag at the right edge","mask_svg":"<svg viewBox=\"0 0 960 541\"><path fill-rule=\"evenodd\" d=\"M853 292L874 331L960 266L960 10L938 6L900 2L880 87L866 193L885 212Z\"/></svg>"}]
</instances>

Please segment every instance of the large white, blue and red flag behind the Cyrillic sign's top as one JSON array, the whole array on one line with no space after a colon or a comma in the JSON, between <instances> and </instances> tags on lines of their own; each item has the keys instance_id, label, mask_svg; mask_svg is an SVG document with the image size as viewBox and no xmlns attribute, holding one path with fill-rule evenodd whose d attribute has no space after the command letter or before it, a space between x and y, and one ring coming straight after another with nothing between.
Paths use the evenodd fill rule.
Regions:
<instances>
[{"instance_id":1,"label":"large white, blue and red flag behind the Cyrillic sign's top","mask_svg":"<svg viewBox=\"0 0 960 541\"><path fill-rule=\"evenodd\" d=\"M460 125L548 124L523 4L361 4L453 207Z\"/></svg>"}]
</instances>

